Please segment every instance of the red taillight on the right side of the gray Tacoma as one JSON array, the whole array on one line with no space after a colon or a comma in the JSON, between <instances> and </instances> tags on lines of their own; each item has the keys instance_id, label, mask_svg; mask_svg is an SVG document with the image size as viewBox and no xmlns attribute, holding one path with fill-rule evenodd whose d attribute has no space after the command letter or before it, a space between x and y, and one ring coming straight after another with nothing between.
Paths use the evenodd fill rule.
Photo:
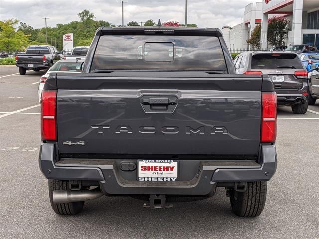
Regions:
<instances>
[{"instance_id":1,"label":"red taillight on the right side of the gray Tacoma","mask_svg":"<svg viewBox=\"0 0 319 239\"><path fill-rule=\"evenodd\" d=\"M277 95L262 93L261 142L274 143L277 132Z\"/></svg>"}]
</instances>

